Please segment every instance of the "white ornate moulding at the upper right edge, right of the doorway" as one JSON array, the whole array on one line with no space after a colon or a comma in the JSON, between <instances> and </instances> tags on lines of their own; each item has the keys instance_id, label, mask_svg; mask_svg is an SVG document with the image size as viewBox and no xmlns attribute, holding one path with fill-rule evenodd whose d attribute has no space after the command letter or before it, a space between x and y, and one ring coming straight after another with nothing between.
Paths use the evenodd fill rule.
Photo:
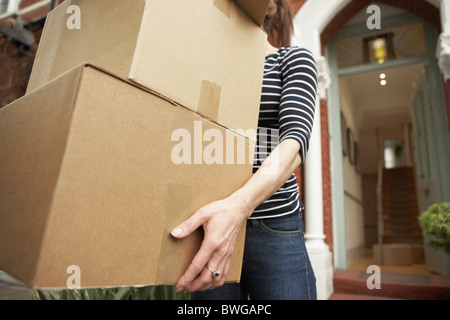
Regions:
<instances>
[{"instance_id":1,"label":"white ornate moulding at the upper right edge, right of the doorway","mask_svg":"<svg viewBox=\"0 0 450 320\"><path fill-rule=\"evenodd\" d=\"M442 33L439 36L436 57L445 81L450 80L450 0L441 0Z\"/></svg>"}]
</instances>

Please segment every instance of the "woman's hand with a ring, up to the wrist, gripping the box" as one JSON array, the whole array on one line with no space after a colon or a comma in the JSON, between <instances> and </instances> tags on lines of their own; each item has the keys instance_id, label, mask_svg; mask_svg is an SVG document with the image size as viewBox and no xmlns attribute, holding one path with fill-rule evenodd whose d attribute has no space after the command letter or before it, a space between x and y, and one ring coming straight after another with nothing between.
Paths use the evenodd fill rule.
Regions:
<instances>
[{"instance_id":1,"label":"woman's hand with a ring, up to the wrist, gripping the box","mask_svg":"<svg viewBox=\"0 0 450 320\"><path fill-rule=\"evenodd\" d=\"M205 291L225 283L239 230L252 211L244 199L233 194L201 208L172 231L172 236L180 239L200 226L204 229L200 250L179 279L177 291ZM214 278L208 267L220 274Z\"/></svg>"}]
</instances>

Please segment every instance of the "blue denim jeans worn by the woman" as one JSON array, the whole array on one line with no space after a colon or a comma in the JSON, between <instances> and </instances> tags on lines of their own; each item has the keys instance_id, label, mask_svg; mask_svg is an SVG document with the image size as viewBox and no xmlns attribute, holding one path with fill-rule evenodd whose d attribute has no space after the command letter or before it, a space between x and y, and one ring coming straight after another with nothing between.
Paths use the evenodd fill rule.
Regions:
<instances>
[{"instance_id":1,"label":"blue denim jeans worn by the woman","mask_svg":"<svg viewBox=\"0 0 450 320\"><path fill-rule=\"evenodd\" d=\"M248 220L240 283L191 294L192 300L316 300L300 215Z\"/></svg>"}]
</instances>

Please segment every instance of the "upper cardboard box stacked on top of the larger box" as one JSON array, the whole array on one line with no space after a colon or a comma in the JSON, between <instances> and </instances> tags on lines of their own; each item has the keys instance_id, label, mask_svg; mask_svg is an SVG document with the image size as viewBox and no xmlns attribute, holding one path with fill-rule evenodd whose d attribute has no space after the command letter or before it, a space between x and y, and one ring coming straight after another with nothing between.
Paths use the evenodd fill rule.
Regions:
<instances>
[{"instance_id":1,"label":"upper cardboard box stacked on top of the larger box","mask_svg":"<svg viewBox=\"0 0 450 320\"><path fill-rule=\"evenodd\" d=\"M226 128L252 129L255 141L268 2L64 1L48 15L27 92L88 62Z\"/></svg>"}]
</instances>

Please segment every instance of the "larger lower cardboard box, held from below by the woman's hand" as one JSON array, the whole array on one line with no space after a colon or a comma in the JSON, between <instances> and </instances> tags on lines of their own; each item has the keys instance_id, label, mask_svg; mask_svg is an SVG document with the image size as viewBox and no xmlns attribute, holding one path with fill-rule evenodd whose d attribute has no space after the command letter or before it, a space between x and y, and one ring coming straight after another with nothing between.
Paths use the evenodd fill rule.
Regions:
<instances>
[{"instance_id":1,"label":"larger lower cardboard box, held from below by the woman's hand","mask_svg":"<svg viewBox=\"0 0 450 320\"><path fill-rule=\"evenodd\" d=\"M34 288L65 288L70 266L82 287L176 283L202 233L170 231L252 174L247 138L90 65L0 109L0 137L0 269ZM236 162L205 164L213 143Z\"/></svg>"}]
</instances>

